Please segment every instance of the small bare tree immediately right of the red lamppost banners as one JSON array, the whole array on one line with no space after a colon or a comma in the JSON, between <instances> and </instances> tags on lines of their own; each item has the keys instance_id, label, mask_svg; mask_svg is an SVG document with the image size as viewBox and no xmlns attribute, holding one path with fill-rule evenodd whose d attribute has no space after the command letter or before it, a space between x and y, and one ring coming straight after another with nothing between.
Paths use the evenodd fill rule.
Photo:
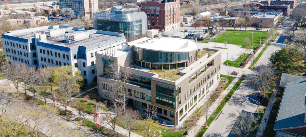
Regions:
<instances>
[{"instance_id":1,"label":"small bare tree immediately right of the red lamppost banners","mask_svg":"<svg viewBox=\"0 0 306 137\"><path fill-rule=\"evenodd\" d=\"M100 123L103 124L108 124L112 129L113 129L113 135L115 134L115 128L116 128L116 123L119 121L119 117L122 115L122 109L124 106L122 105L121 102L118 101L111 101L110 102L112 105L112 110L107 111L103 110L104 115L101 115ZM103 105L107 105L107 101L103 102Z\"/></svg>"}]
</instances>

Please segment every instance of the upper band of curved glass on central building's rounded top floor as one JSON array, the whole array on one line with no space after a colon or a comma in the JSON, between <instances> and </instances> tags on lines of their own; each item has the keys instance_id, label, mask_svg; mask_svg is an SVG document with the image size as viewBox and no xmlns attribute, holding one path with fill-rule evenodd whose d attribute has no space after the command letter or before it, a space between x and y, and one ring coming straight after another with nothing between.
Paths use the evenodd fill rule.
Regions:
<instances>
[{"instance_id":1,"label":"upper band of curved glass on central building's rounded top floor","mask_svg":"<svg viewBox=\"0 0 306 137\"><path fill-rule=\"evenodd\" d=\"M135 59L149 63L177 63L187 61L188 52L164 52L134 48Z\"/></svg>"}]
</instances>

